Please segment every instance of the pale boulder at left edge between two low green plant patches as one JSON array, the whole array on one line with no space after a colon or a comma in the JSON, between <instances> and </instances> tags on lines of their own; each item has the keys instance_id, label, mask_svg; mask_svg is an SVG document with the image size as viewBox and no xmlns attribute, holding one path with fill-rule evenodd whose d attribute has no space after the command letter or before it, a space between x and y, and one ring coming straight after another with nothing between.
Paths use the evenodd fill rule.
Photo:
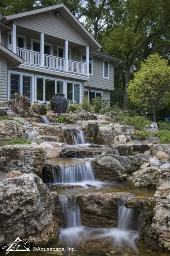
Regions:
<instances>
[{"instance_id":1,"label":"pale boulder at left edge between two low green plant patches","mask_svg":"<svg viewBox=\"0 0 170 256\"><path fill-rule=\"evenodd\" d=\"M11 120L0 121L0 143L21 138L26 131L25 125Z\"/></svg>"}]
</instances>

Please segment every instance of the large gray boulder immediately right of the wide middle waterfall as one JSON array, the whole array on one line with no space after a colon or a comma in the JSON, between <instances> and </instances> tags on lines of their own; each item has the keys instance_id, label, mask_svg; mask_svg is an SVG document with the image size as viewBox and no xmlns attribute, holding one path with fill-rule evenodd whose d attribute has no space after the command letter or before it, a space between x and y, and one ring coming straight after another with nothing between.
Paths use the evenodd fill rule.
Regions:
<instances>
[{"instance_id":1,"label":"large gray boulder immediately right of the wide middle waterfall","mask_svg":"<svg viewBox=\"0 0 170 256\"><path fill-rule=\"evenodd\" d=\"M147 163L150 155L136 154L122 157L115 154L105 154L94 158L92 166L98 180L125 181L143 163Z\"/></svg>"}]
</instances>

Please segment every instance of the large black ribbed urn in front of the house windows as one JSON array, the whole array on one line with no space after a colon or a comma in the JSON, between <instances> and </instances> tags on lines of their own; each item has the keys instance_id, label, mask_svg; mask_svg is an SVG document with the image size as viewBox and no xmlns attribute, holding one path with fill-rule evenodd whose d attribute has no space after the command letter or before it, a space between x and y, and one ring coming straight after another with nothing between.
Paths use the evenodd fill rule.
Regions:
<instances>
[{"instance_id":1,"label":"large black ribbed urn in front of the house windows","mask_svg":"<svg viewBox=\"0 0 170 256\"><path fill-rule=\"evenodd\" d=\"M51 110L54 113L66 113L67 110L67 99L65 98L65 94L55 93L53 94L51 101Z\"/></svg>"}]
</instances>

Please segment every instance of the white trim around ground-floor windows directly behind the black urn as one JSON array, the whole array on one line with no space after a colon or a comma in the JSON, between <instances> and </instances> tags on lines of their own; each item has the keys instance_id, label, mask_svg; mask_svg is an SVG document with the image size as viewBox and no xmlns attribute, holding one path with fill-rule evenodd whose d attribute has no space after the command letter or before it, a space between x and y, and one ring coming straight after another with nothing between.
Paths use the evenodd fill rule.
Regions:
<instances>
[{"instance_id":1,"label":"white trim around ground-floor windows directly behind the black urn","mask_svg":"<svg viewBox=\"0 0 170 256\"><path fill-rule=\"evenodd\" d=\"M49 77L49 76L35 75L35 101L37 101L37 78L42 78L43 79L43 101L38 100L38 103L44 103L45 102L45 79L55 81L55 93L57 93L57 81L62 81L63 82L63 94L65 94L65 80L57 79L57 78L53 78L53 77ZM50 103L48 101L46 101L46 102Z\"/></svg>"}]
</instances>

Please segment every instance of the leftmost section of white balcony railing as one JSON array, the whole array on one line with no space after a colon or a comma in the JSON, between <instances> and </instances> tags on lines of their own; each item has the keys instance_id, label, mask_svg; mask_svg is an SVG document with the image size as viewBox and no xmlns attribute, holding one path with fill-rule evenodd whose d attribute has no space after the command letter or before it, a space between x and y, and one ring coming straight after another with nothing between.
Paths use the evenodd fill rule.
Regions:
<instances>
[{"instance_id":1,"label":"leftmost section of white balcony railing","mask_svg":"<svg viewBox=\"0 0 170 256\"><path fill-rule=\"evenodd\" d=\"M23 58L24 63L40 66L41 65L41 53L34 52L27 49L17 47L17 55Z\"/></svg>"}]
</instances>

